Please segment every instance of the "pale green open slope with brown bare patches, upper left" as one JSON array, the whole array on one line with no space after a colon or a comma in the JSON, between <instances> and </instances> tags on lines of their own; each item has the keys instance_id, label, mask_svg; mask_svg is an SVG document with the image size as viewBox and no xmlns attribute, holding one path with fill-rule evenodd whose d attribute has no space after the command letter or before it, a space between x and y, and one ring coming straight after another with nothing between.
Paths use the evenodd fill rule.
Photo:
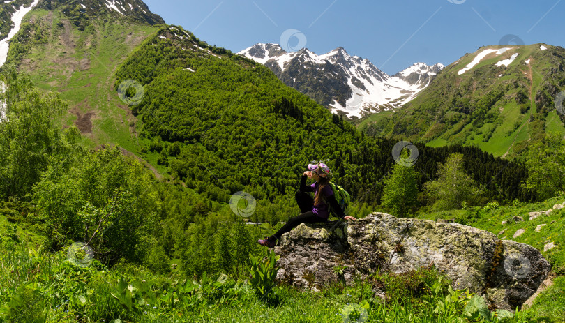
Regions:
<instances>
[{"instance_id":1,"label":"pale green open slope with brown bare patches, upper left","mask_svg":"<svg viewBox=\"0 0 565 323\"><path fill-rule=\"evenodd\" d=\"M96 15L84 15L80 21L86 23L77 25L68 10L75 2L40 2L10 41L6 66L29 73L41 89L59 92L69 103L63 126L80 128L89 146L114 142L137 151L135 118L116 95L114 72L158 30L151 23L162 19L151 14L151 19L144 21L142 16L122 17L112 10L100 10ZM98 1L90 2L99 6Z\"/></svg>"}]
</instances>

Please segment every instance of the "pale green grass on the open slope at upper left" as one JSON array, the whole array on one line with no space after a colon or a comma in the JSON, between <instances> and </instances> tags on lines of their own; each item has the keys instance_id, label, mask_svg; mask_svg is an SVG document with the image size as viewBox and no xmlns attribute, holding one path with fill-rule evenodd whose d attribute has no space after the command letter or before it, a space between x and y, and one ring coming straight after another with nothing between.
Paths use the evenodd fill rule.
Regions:
<instances>
[{"instance_id":1,"label":"pale green grass on the open slope at upper left","mask_svg":"<svg viewBox=\"0 0 565 323\"><path fill-rule=\"evenodd\" d=\"M69 112L61 121L63 126L75 124L76 114L92 113L91 132L83 131L84 144L119 144L139 154L148 140L140 140L130 131L129 123L135 122L135 118L114 90L114 73L158 27L100 17L93 27L79 31L57 10L33 10L28 17L43 18L45 24L51 20L47 26L50 37L47 45L32 47L20 70L29 73L40 89L57 91L68 101ZM61 42L61 38L68 40Z\"/></svg>"}]
</instances>

